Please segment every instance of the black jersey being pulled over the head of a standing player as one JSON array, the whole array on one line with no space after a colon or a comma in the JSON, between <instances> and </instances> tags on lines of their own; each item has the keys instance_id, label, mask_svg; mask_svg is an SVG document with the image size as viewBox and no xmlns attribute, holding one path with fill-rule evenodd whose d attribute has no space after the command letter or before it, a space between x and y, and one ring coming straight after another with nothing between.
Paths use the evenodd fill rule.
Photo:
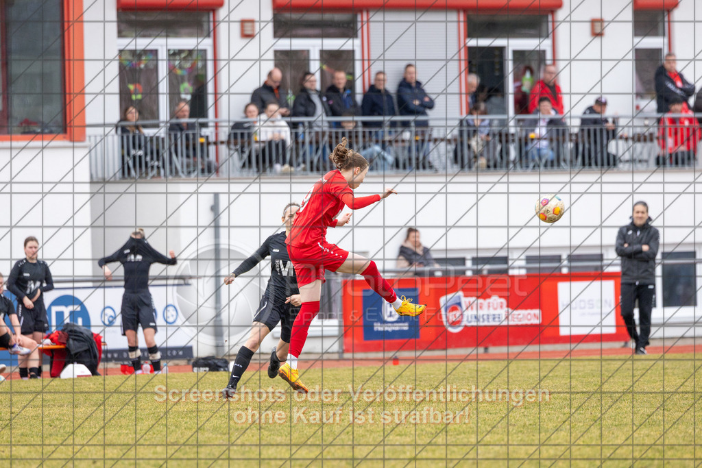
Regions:
<instances>
[{"instance_id":1,"label":"black jersey being pulled over the head of a standing player","mask_svg":"<svg viewBox=\"0 0 702 468\"><path fill-rule=\"evenodd\" d=\"M175 258L166 257L156 251L146 239L130 237L117 252L109 257L100 258L98 265L120 262L124 265L124 290L135 293L149 289L149 268L152 263L176 265Z\"/></svg>"}]
</instances>

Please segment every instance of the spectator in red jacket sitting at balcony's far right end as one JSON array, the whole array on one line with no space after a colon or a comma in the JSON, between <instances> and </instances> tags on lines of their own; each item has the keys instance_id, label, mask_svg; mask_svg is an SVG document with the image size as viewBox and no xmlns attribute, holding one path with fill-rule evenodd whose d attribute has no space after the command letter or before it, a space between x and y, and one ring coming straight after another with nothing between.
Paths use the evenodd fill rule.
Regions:
<instances>
[{"instance_id":1,"label":"spectator in red jacket sitting at balcony's far right end","mask_svg":"<svg viewBox=\"0 0 702 468\"><path fill-rule=\"evenodd\" d=\"M680 96L672 96L668 105L670 110L658 124L661 154L656 158L656 165L689 166L695 161L700 140L699 123L691 110L684 107Z\"/></svg>"}]
</instances>

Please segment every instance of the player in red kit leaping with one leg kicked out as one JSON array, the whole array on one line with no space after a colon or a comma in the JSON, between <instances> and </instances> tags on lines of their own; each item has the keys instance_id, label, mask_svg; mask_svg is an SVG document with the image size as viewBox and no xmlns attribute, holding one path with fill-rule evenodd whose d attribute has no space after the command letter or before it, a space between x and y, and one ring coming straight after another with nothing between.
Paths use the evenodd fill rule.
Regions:
<instances>
[{"instance_id":1,"label":"player in red kit leaping with one leg kicked out","mask_svg":"<svg viewBox=\"0 0 702 468\"><path fill-rule=\"evenodd\" d=\"M368 173L368 161L361 154L348 149L345 138L329 155L329 159L337 169L326 173L307 193L286 239L303 305L293 323L288 360L278 373L293 389L302 393L307 393L307 387L300 382L298 376L298 357L307 340L310 323L319 313L324 270L361 274L376 293L392 304L399 315L416 316L424 312L426 307L411 304L411 300L406 300L404 296L398 298L388 281L380 276L373 260L347 252L326 241L327 227L340 227L351 219L351 213L336 218L344 206L358 210L397 193L385 189L382 195L358 198L353 195L353 189L361 185Z\"/></svg>"}]
</instances>

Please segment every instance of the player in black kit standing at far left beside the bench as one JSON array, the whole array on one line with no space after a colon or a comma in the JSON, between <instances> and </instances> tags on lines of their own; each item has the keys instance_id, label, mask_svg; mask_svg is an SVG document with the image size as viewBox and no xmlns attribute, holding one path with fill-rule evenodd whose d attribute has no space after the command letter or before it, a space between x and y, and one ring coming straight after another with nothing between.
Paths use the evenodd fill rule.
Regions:
<instances>
[{"instance_id":1,"label":"player in black kit standing at far left beside the bench","mask_svg":"<svg viewBox=\"0 0 702 468\"><path fill-rule=\"evenodd\" d=\"M7 288L17 296L17 317L20 320L20 331L27 340L41 343L44 333L48 331L48 317L44 305L44 293L53 289L53 278L44 260L37 259L39 241L34 236L25 239L26 258L18 260L12 267L7 279ZM58 326L58 323L56 324ZM16 332L16 330L15 330ZM26 379L29 373L32 377L41 377L41 356L37 367L27 368L20 362L20 377Z\"/></svg>"}]
</instances>

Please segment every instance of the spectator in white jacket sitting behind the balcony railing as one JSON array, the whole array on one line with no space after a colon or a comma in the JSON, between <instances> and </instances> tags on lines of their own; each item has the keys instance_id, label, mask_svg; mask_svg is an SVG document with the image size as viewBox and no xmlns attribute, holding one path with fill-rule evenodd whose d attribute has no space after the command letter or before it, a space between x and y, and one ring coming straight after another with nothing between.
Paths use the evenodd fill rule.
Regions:
<instances>
[{"instance_id":1,"label":"spectator in white jacket sitting behind the balcony railing","mask_svg":"<svg viewBox=\"0 0 702 468\"><path fill-rule=\"evenodd\" d=\"M262 117L258 125L258 141L265 143L262 168L270 167L272 163L275 173L290 172L292 168L287 157L290 140L290 127L280 117L280 106L277 102L268 102L265 118Z\"/></svg>"}]
</instances>

